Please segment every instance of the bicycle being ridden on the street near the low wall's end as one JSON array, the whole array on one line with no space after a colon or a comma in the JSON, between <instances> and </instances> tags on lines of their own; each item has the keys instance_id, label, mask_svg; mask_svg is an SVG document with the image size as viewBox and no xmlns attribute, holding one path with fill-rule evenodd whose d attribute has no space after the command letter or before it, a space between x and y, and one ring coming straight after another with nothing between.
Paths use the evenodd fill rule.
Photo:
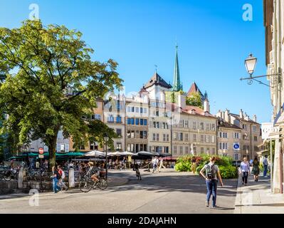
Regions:
<instances>
[{"instance_id":1,"label":"bicycle being ridden on the street near the low wall's end","mask_svg":"<svg viewBox=\"0 0 284 228\"><path fill-rule=\"evenodd\" d=\"M100 190L105 190L108 186L107 180L104 177L98 177L98 182L94 181L91 177L88 175L85 175L82 180L80 180L79 188L81 192L90 192L90 190L93 188L100 188Z\"/></svg>"}]
</instances>

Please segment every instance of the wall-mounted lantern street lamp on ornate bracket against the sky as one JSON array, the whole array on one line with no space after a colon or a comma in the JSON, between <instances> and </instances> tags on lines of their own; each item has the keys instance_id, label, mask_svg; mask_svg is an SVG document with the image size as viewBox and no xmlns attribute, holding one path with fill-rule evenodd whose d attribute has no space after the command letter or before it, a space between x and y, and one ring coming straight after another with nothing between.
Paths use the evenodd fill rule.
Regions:
<instances>
[{"instance_id":1,"label":"wall-mounted lantern street lamp on ornate bracket against the sky","mask_svg":"<svg viewBox=\"0 0 284 228\"><path fill-rule=\"evenodd\" d=\"M246 58L245 66L246 66L246 71L248 71L249 78L241 78L240 80L241 81L247 80L248 85L251 85L251 84L253 84L253 81L256 81L256 82L258 82L258 83L260 83L264 86L274 88L274 86L270 86L268 84L263 83L262 81L258 81L256 78L264 78L264 77L270 78L270 77L276 77L276 76L278 76L278 78L280 78L281 73L273 73L273 74L270 74L270 75L254 76L253 77L253 73L254 73L254 70L256 69L256 62L257 61L258 61L258 59L256 57L253 57L253 54L250 54L248 56L248 58Z\"/></svg>"}]
</instances>

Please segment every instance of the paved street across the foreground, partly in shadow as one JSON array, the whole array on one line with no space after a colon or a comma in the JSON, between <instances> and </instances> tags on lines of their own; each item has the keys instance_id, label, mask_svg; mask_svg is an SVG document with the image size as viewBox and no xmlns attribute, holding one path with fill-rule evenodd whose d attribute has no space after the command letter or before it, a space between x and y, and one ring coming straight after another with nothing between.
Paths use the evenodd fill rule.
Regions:
<instances>
[{"instance_id":1,"label":"paved street across the foreground, partly in shadow","mask_svg":"<svg viewBox=\"0 0 284 228\"><path fill-rule=\"evenodd\" d=\"M198 175L162 170L144 172L142 181L132 170L110 171L110 178L124 178L127 183L82 193L70 190L58 194L40 193L38 206L31 207L30 195L0 198L0 213L233 213L237 180L224 180L219 188L218 209L205 207L206 185ZM35 197L35 196L33 196Z\"/></svg>"}]
</instances>

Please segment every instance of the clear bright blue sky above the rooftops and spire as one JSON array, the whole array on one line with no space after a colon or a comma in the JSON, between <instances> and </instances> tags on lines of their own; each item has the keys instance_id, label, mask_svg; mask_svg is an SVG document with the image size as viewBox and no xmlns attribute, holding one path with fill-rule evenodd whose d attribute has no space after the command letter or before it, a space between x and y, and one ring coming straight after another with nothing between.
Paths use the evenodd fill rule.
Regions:
<instances>
[{"instance_id":1,"label":"clear bright blue sky above the rooftops and spire","mask_svg":"<svg viewBox=\"0 0 284 228\"><path fill-rule=\"evenodd\" d=\"M269 88L248 86L244 59L258 57L256 75L265 71L263 1L259 0L0 0L0 26L14 28L38 4L43 24L64 24L83 33L94 60L113 58L127 92L139 90L154 73L173 81L175 42L184 90L195 81L219 109L240 108L259 122L270 120ZM243 4L253 5L253 21L243 21ZM265 78L264 78L265 81Z\"/></svg>"}]
</instances>

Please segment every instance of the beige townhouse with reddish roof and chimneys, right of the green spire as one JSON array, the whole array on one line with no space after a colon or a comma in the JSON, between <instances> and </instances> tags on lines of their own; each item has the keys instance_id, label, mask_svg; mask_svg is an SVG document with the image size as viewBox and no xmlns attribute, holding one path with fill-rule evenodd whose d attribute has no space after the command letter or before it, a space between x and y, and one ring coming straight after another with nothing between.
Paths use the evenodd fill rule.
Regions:
<instances>
[{"instance_id":1,"label":"beige townhouse with reddish roof and chimneys, right of the green spire","mask_svg":"<svg viewBox=\"0 0 284 228\"><path fill-rule=\"evenodd\" d=\"M185 105L179 96L180 119L172 125L173 157L186 154L216 155L216 118L209 113L209 102L204 110Z\"/></svg>"}]
</instances>

